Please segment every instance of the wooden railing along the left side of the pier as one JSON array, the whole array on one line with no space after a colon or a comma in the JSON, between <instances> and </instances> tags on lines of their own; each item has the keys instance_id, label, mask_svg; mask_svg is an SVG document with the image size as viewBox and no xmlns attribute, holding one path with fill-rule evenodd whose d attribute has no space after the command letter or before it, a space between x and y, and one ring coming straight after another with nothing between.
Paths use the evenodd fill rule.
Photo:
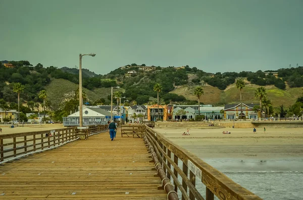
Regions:
<instances>
[{"instance_id":1,"label":"wooden railing along the left side of the pier","mask_svg":"<svg viewBox=\"0 0 303 200\"><path fill-rule=\"evenodd\" d=\"M80 132L77 127L0 135L0 163L32 153L53 149L77 140L80 134L87 138L108 129L108 125L91 125Z\"/></svg>"}]
</instances>

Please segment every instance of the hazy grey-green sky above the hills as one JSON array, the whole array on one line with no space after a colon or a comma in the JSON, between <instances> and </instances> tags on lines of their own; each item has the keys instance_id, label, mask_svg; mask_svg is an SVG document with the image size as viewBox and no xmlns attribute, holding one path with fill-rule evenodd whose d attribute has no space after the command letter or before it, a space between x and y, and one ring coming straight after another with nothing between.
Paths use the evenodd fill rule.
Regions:
<instances>
[{"instance_id":1,"label":"hazy grey-green sky above the hills","mask_svg":"<svg viewBox=\"0 0 303 200\"><path fill-rule=\"evenodd\" d=\"M107 74L137 63L206 72L303 65L302 0L2 0L0 60Z\"/></svg>"}]
</instances>

